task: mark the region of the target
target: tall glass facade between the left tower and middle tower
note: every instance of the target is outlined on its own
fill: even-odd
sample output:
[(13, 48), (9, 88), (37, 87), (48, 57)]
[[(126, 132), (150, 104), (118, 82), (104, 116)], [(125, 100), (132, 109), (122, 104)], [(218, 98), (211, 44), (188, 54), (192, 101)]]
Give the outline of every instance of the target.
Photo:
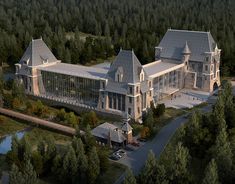
[(97, 107), (100, 81), (41, 71), (40, 93)]

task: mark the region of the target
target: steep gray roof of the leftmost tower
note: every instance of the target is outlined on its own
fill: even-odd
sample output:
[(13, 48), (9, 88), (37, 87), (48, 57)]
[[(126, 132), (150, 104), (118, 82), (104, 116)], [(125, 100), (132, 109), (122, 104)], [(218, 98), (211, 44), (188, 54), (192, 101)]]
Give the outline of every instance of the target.
[(28, 66), (42, 65), (44, 62), (53, 63), (57, 59), (42, 39), (32, 40), (26, 49), (20, 64), (28, 63)]

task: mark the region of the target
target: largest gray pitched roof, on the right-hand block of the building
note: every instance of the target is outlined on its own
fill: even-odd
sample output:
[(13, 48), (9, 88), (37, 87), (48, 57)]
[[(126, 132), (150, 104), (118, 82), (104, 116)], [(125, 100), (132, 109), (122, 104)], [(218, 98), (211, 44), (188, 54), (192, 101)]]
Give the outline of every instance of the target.
[(210, 32), (169, 29), (159, 44), (162, 48), (161, 58), (181, 60), (186, 42), (192, 61), (204, 61), (203, 54), (213, 52), (216, 46)]

